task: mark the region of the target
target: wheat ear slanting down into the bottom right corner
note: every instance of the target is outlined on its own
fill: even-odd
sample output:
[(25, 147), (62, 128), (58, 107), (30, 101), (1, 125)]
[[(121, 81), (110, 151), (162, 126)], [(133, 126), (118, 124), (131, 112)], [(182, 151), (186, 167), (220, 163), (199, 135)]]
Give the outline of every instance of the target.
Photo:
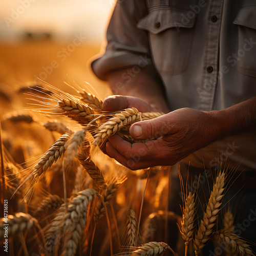
[(255, 255), (250, 249), (250, 246), (241, 239), (241, 237), (232, 233), (228, 230), (219, 230), (215, 232), (217, 239), (222, 241), (225, 245), (229, 246), (231, 249), (236, 251), (239, 255), (251, 256)]

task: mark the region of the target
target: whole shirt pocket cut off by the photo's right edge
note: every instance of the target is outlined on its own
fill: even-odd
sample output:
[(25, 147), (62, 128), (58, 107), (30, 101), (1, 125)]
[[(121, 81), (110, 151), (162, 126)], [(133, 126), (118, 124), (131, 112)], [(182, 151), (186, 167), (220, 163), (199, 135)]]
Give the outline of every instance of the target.
[(233, 24), (239, 25), (237, 71), (256, 77), (256, 6), (242, 7)]

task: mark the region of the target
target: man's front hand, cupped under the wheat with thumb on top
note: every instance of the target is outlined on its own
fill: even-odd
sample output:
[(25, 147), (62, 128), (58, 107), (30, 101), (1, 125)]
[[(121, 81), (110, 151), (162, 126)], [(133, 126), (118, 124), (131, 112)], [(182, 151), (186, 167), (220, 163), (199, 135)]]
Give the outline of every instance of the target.
[(131, 144), (114, 135), (106, 143), (106, 152), (133, 170), (173, 165), (219, 137), (213, 113), (184, 108), (152, 120), (136, 122), (130, 128), (133, 138), (157, 139)]

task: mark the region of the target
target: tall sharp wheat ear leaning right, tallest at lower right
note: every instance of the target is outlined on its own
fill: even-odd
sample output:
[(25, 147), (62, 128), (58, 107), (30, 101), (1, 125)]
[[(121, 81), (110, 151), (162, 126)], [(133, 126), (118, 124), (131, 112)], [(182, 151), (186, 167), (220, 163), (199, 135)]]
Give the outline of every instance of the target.
[(212, 228), (215, 225), (215, 221), (219, 215), (221, 199), (223, 198), (225, 183), (225, 171), (220, 172), (216, 178), (214, 187), (211, 191), (209, 202), (206, 207), (206, 211), (203, 215), (203, 220), (198, 228), (198, 232), (194, 239), (195, 254), (198, 255), (199, 249), (203, 248), (205, 243), (210, 239), (212, 235)]

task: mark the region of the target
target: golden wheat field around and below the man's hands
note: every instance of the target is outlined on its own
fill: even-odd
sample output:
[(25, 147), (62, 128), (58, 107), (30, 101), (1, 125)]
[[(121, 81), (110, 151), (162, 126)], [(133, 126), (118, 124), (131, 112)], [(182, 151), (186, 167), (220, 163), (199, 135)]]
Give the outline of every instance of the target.
[(61, 48), (1, 47), (1, 255), (203, 255), (209, 241), (225, 244), (226, 255), (254, 255), (222, 205), (225, 166), (205, 202), (183, 190), (177, 215), (168, 211), (171, 167), (132, 171), (101, 152), (113, 134), (133, 143), (130, 125), (163, 113), (103, 111), (110, 89), (88, 68), (99, 46), (78, 47), (35, 81)]

